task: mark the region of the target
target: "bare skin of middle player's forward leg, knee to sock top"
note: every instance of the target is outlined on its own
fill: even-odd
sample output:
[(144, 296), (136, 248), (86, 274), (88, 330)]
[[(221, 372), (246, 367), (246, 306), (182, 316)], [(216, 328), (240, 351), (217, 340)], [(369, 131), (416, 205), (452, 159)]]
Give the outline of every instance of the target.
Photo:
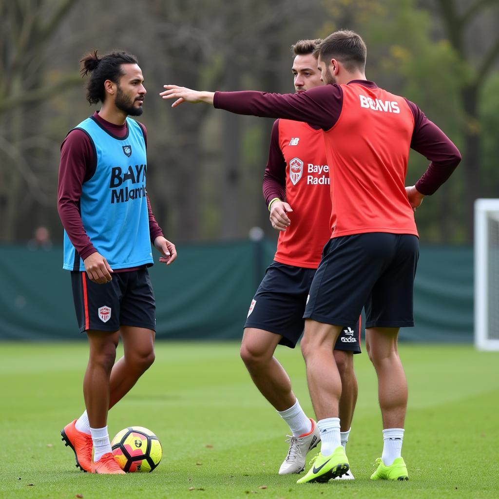
[(276, 411), (284, 411), (296, 402), (289, 376), (273, 356), (281, 338), (263, 329), (247, 327), (240, 351), (253, 383)]

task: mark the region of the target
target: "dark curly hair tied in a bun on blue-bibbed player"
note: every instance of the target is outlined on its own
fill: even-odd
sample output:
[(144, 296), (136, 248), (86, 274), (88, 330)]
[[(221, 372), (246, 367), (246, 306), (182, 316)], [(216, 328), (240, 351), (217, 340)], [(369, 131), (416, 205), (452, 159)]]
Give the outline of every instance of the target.
[(122, 64), (138, 64), (137, 57), (127, 52), (116, 51), (99, 57), (97, 50), (85, 55), (80, 62), (81, 76), (91, 73), (87, 84), (87, 100), (90, 104), (104, 102), (106, 96), (104, 82), (111, 80), (118, 83), (119, 77), (125, 74), (121, 69)]

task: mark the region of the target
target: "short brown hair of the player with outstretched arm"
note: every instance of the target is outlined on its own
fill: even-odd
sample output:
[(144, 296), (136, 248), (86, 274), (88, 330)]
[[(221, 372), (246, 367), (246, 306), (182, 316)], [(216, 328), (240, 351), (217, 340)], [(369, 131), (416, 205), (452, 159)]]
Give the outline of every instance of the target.
[(335, 31), (322, 40), (313, 55), (329, 64), (331, 59), (338, 59), (347, 71), (364, 70), (367, 48), (364, 40), (355, 31), (342, 29)]

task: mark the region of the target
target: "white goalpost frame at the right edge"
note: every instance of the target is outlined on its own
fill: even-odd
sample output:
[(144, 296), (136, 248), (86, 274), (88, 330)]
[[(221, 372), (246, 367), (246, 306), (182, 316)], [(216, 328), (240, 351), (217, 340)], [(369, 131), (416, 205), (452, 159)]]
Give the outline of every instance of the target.
[(475, 201), (475, 346), (499, 350), (499, 199)]

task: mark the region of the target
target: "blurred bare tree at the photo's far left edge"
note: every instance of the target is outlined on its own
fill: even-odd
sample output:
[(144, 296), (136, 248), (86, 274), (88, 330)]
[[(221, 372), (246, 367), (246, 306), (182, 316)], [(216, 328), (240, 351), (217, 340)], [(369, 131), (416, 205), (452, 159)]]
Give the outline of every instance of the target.
[[(27, 192), (40, 204), (51, 203), (43, 178), (32, 170), (27, 153), (34, 157), (46, 144), (40, 136), (26, 132), (26, 106), (42, 102), (64, 88), (73, 86), (75, 74), (48, 83), (44, 79), (44, 49), (55, 28), (77, 0), (0, 2), (0, 240), (11, 242), (19, 216), (21, 194)], [(34, 151), (36, 150), (36, 151)], [(41, 152), (43, 154), (43, 152)], [(22, 185), (26, 191), (21, 189)], [(25, 197), (25, 196), (24, 196)], [(24, 199), (25, 201), (25, 199)]]

